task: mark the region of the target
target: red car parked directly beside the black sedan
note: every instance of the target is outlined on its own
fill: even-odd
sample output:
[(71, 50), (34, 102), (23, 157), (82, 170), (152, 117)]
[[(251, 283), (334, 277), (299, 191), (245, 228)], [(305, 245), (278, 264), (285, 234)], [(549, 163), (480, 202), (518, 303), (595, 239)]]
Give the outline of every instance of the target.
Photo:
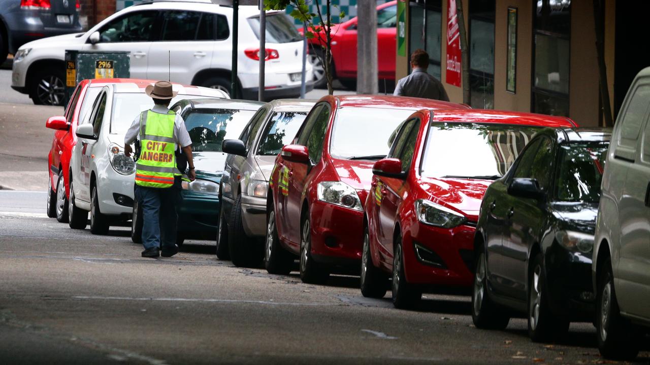
[(415, 306), (423, 291), (461, 291), (473, 279), (474, 230), (489, 184), (543, 127), (564, 117), (496, 110), (419, 110), (391, 136), (365, 200), (361, 293)]

